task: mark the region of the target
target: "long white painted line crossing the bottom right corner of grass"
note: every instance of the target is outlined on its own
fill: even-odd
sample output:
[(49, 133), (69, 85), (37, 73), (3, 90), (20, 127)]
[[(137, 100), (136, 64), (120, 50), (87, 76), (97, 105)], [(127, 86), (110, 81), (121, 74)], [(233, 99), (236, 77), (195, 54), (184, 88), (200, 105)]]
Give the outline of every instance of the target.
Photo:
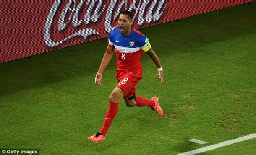
[(243, 136), (243, 137), (239, 137), (239, 138), (235, 138), (233, 140), (227, 140), (225, 142), (220, 142), (218, 144), (202, 147), (202, 148), (199, 148), (199, 149), (196, 149), (196, 150), (180, 153), (178, 155), (194, 155), (194, 154), (197, 154), (197, 153), (202, 153), (202, 152), (205, 152), (205, 151), (214, 150), (214, 149), (217, 149), (219, 147), (231, 145), (231, 144), (234, 144), (236, 142), (242, 142), (244, 140), (250, 140), (250, 139), (253, 139), (253, 138), (256, 138), (256, 133), (249, 134), (247, 136)]

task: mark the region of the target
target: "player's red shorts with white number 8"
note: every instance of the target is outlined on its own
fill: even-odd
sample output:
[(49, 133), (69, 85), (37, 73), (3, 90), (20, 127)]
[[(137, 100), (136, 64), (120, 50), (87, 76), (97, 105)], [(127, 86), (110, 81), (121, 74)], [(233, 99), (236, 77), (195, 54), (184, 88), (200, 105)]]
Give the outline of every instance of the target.
[(118, 78), (116, 87), (122, 89), (124, 98), (136, 94), (136, 85), (141, 80), (141, 77), (136, 72), (129, 72)]

